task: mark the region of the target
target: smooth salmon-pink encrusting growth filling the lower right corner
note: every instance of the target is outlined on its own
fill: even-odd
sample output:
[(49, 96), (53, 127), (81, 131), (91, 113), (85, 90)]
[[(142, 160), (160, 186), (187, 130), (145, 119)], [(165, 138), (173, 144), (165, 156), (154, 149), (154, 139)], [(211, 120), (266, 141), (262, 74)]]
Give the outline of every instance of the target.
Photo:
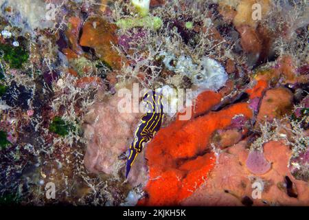
[[(242, 141), (220, 153), (207, 182), (183, 206), (305, 206), (309, 202), (308, 183), (290, 174), (291, 151), (281, 142), (264, 144), (264, 157), (272, 164), (263, 175), (252, 175), (244, 166), (247, 143)], [(229, 170), (229, 172), (227, 172)], [(260, 190), (260, 195), (257, 190)], [(253, 198), (254, 197), (254, 198)], [(248, 202), (250, 201), (250, 202)]]

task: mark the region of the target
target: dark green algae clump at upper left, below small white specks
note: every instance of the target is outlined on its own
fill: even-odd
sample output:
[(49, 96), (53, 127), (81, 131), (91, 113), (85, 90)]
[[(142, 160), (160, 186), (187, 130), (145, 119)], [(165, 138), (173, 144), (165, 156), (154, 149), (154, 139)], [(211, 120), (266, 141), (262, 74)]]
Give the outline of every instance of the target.
[(0, 43), (0, 52), (3, 54), (3, 60), (14, 69), (21, 69), (23, 63), (29, 58), (28, 52), (23, 50), (22, 47), (14, 47), (3, 43)]

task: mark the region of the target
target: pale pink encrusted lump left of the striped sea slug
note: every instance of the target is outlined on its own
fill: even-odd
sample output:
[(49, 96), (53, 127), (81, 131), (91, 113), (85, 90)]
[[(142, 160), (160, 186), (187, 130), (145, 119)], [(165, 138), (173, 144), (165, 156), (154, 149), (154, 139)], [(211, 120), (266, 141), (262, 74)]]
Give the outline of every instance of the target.
[(117, 175), (124, 164), (119, 156), (133, 140), (140, 113), (119, 113), (119, 100), (113, 97), (107, 102), (95, 103), (84, 119), (87, 123), (84, 135), (88, 139), (84, 165), (92, 173)]

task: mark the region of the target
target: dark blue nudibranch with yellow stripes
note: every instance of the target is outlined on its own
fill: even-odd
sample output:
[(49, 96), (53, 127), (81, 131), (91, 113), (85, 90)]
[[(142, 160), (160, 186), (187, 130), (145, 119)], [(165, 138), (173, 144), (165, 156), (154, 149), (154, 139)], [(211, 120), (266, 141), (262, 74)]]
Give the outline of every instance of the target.
[(162, 94), (148, 91), (144, 95), (143, 102), (146, 104), (148, 111), (141, 117), (141, 122), (137, 125), (134, 133), (134, 140), (130, 144), (128, 161), (126, 162), (126, 178), (137, 155), (141, 153), (144, 145), (150, 142), (161, 128), (164, 116)]

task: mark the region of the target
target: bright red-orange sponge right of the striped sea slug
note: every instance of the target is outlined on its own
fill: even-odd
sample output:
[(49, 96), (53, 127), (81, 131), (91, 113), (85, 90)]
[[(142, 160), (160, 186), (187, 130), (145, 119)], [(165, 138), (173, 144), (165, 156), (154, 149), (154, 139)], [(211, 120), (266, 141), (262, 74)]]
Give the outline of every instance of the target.
[[(251, 118), (249, 104), (233, 104), (218, 112), (209, 109), (220, 102), (220, 95), (204, 92), (196, 101), (194, 117), (176, 120), (161, 129), (146, 148), (150, 180), (145, 188), (148, 197), (141, 206), (175, 206), (189, 197), (207, 179), (216, 157), (209, 150), (209, 139), (217, 129), (225, 129), (235, 115)], [(206, 113), (205, 115), (200, 113)]]

